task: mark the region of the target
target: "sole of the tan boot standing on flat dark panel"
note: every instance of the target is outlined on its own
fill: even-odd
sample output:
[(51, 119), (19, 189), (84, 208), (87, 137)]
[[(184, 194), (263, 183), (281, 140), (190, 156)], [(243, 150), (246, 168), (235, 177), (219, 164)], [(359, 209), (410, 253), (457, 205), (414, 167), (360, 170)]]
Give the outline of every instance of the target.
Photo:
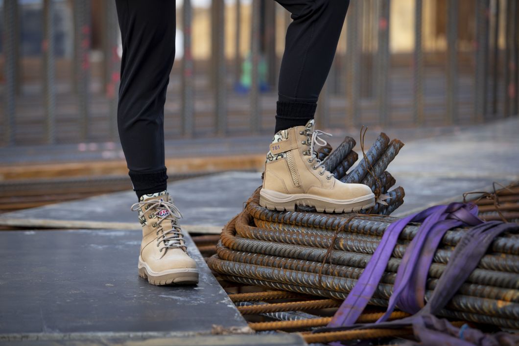
[(198, 283), (198, 269), (179, 268), (154, 272), (139, 256), (139, 276), (147, 279), (152, 285), (196, 285)]

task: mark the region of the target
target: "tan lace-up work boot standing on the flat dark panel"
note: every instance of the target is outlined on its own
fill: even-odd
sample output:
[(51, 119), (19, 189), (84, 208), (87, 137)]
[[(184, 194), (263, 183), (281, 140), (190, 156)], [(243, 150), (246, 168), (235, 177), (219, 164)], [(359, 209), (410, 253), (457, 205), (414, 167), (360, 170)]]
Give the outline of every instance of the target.
[(168, 191), (144, 195), (131, 209), (139, 211), (142, 225), (139, 276), (153, 285), (197, 284), (196, 262), (187, 254), (177, 224), (182, 215)]

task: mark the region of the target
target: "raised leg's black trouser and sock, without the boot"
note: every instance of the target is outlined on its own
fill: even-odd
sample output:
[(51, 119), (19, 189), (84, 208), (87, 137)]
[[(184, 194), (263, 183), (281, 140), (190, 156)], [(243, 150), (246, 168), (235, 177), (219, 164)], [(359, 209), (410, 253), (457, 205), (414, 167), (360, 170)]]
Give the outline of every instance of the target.
[(279, 72), (275, 133), (313, 119), (349, 0), (277, 0), (292, 13)]

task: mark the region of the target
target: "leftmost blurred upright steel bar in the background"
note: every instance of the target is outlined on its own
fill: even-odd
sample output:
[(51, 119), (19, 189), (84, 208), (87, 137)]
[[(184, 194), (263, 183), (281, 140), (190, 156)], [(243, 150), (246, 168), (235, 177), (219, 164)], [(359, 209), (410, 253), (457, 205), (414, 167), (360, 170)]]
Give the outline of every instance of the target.
[(16, 53), (15, 25), (17, 0), (4, 0), (4, 141), (5, 145), (15, 144), (16, 134)]

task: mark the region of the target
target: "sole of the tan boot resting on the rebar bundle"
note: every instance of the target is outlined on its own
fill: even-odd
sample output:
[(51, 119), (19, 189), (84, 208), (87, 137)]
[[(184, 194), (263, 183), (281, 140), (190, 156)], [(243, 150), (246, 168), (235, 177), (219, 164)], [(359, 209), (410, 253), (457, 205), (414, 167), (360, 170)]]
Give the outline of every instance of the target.
[(351, 213), (367, 209), (375, 205), (375, 195), (353, 198), (350, 200), (334, 200), (326, 197), (308, 195), (307, 193), (287, 193), (265, 190), (260, 191), (260, 205), (269, 210), (295, 211), (297, 205), (315, 207), (322, 213)]

